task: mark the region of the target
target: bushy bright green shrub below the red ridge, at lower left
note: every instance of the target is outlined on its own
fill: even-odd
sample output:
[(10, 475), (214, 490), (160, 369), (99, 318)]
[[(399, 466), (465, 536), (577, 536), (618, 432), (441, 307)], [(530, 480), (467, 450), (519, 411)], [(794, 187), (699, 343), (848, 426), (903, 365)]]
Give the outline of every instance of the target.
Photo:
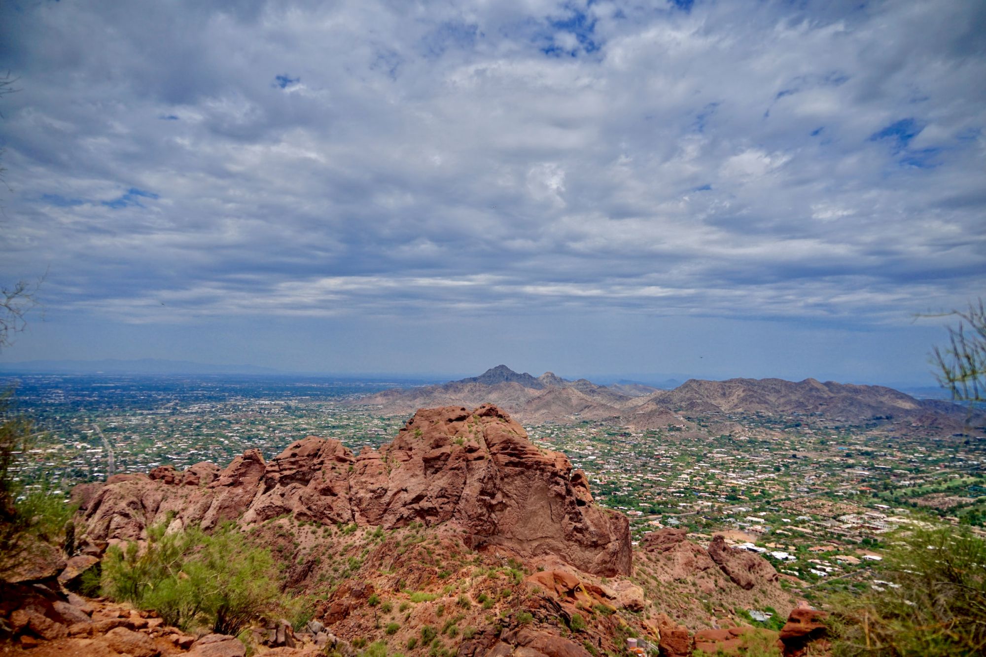
[(165, 533), (148, 528), (147, 548), (110, 547), (103, 560), (103, 592), (168, 624), (205, 622), (220, 634), (236, 635), (278, 599), (270, 552), (246, 544), (232, 524), (212, 535), (198, 529)]

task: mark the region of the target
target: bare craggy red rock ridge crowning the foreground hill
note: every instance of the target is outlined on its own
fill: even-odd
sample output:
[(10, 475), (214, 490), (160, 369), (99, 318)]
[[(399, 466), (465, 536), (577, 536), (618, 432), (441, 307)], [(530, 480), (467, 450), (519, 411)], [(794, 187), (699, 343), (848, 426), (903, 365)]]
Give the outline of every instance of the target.
[(470, 547), (553, 554), (600, 575), (630, 572), (626, 518), (597, 506), (584, 474), (563, 455), (539, 450), (490, 404), (419, 410), (393, 442), (359, 455), (310, 436), (270, 463), (251, 450), (218, 473), (192, 468), (197, 485), (165, 471), (107, 483), (82, 512), (84, 538), (97, 546), (141, 539), (169, 511), (177, 527), (205, 528), (293, 513), (385, 529), (449, 523)]

